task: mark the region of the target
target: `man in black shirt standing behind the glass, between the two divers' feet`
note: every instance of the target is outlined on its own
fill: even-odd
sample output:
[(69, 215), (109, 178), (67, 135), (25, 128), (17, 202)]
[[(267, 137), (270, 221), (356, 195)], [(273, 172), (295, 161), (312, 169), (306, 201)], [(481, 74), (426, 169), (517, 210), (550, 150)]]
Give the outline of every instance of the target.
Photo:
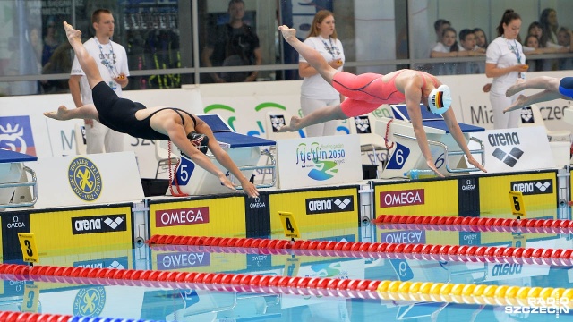
[[(262, 64), (259, 37), (251, 26), (244, 23), (243, 0), (231, 0), (228, 6), (229, 22), (218, 26), (215, 33), (207, 39), (207, 45), (201, 53), (201, 62), (207, 67), (243, 66)], [(213, 72), (215, 82), (253, 81), (254, 72)]]

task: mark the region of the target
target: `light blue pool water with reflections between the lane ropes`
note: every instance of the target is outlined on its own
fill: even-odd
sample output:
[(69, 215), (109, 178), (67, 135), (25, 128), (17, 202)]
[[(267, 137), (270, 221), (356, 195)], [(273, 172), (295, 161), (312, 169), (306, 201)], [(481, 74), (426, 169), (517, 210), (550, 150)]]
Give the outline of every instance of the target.
[[(486, 236), (486, 233), (479, 232), (480, 227), (475, 227), (475, 232), (434, 231), (432, 235), (430, 231), (415, 229), (392, 230), (385, 226), (377, 229), (378, 233), (382, 232), (381, 236), (387, 236), (386, 241), (392, 238), (390, 242), (432, 242), (442, 245), (452, 244), (449, 233), (457, 233), (462, 242), (471, 241), (480, 245), (488, 239), (496, 240), (496, 234), (508, 234), (489, 232)], [(509, 233), (509, 237), (497, 238), (497, 242), (490, 244), (507, 247), (512, 245), (512, 240), (526, 242), (526, 247), (534, 249), (572, 248), (569, 234), (560, 233)], [(71, 250), (60, 254), (45, 254), (39, 265), (402, 283), (573, 288), (572, 267), (565, 266), (568, 263), (545, 261), (539, 264), (503, 258), (489, 258), (487, 262), (482, 262), (456, 256), (404, 257), (376, 252), (364, 254), (352, 251), (279, 251), (144, 244), (135, 249), (117, 246), (107, 250)], [(451, 300), (451, 297), (440, 297), (438, 301), (432, 301), (435, 297), (418, 297), (419, 300), (414, 301), (415, 297), (407, 296), (400, 298), (387, 294), (386, 297), (377, 297), (377, 292), (348, 297), (338, 296), (348, 295), (348, 292), (326, 294), (256, 285), (245, 285), (237, 292), (237, 288), (213, 284), (153, 284), (141, 280), (127, 283), (114, 278), (50, 280), (35, 276), (28, 281), (19, 281), (11, 275), (2, 275), (2, 278), (4, 285), (0, 310), (21, 311), (29, 307), (30, 292), (35, 292), (38, 294), (38, 312), (74, 316), (220, 322), (573, 320), (573, 312), (569, 313), (566, 306), (547, 310), (483, 305), (477, 303), (479, 301), (469, 304), (444, 302)]]

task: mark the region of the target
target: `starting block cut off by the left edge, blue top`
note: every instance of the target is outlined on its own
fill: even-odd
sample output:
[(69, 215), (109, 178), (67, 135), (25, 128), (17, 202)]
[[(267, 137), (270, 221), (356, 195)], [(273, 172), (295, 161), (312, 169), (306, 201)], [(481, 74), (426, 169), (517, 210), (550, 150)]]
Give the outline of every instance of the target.
[[(38, 199), (38, 185), (36, 173), (23, 162), (38, 160), (37, 157), (0, 148), (0, 210), (3, 208), (31, 207)], [(30, 181), (28, 180), (30, 174)], [(30, 200), (17, 200), (14, 197), (16, 189), (30, 190)], [(23, 193), (29, 194), (29, 193)]]

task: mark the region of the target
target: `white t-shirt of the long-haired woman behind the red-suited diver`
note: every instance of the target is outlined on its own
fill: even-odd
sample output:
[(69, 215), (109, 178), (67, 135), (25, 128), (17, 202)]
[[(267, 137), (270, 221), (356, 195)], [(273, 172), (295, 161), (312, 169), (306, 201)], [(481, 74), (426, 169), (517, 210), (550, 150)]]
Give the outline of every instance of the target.
[[(304, 40), (304, 44), (316, 49), (327, 62), (341, 59), (344, 64), (344, 50), (339, 39), (324, 39), (321, 36), (309, 37)], [(299, 55), (298, 61), (307, 63), (302, 55)], [(342, 66), (338, 67), (338, 71), (342, 71)], [(301, 85), (301, 96), (311, 99), (337, 99), (340, 94), (322, 78), (321, 74), (317, 73), (311, 77), (304, 77), (303, 85)]]

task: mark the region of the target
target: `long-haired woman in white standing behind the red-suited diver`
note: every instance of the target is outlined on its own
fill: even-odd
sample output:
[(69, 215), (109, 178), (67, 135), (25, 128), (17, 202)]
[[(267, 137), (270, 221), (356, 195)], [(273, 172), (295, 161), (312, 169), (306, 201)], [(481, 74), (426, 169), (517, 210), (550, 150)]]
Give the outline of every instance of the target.
[[(309, 35), (304, 44), (316, 49), (332, 68), (342, 71), (345, 62), (342, 43), (337, 37), (334, 14), (321, 10), (314, 15)], [(301, 86), (301, 108), (304, 115), (324, 106), (340, 104), (341, 95), (324, 80), (319, 72), (308, 64), (302, 55), (298, 58), (298, 74), (304, 78)], [(306, 128), (308, 137), (334, 135), (338, 121), (318, 123)]]

